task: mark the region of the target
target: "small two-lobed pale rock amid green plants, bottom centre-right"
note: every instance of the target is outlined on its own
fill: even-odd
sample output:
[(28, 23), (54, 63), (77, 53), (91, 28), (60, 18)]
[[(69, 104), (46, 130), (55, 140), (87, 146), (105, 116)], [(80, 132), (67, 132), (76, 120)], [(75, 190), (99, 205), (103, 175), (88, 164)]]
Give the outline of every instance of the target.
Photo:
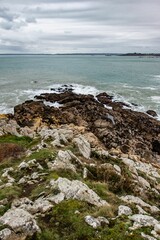
[(102, 225), (108, 225), (109, 221), (105, 217), (94, 218), (90, 215), (85, 217), (85, 222), (93, 228), (101, 227)]

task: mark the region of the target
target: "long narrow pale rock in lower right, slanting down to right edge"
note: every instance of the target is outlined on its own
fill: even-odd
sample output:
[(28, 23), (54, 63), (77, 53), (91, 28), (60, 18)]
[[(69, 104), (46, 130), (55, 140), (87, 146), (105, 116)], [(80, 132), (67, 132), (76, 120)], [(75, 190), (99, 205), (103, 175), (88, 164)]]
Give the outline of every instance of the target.
[(126, 196), (120, 197), (120, 199), (123, 200), (124, 202), (135, 203), (137, 205), (140, 205), (141, 207), (147, 207), (147, 208), (150, 209), (150, 211), (152, 213), (156, 213), (156, 212), (160, 211), (159, 208), (157, 208), (156, 206), (151, 206), (150, 204), (144, 202), (139, 197), (135, 197), (135, 196), (132, 196), (132, 195), (126, 195)]

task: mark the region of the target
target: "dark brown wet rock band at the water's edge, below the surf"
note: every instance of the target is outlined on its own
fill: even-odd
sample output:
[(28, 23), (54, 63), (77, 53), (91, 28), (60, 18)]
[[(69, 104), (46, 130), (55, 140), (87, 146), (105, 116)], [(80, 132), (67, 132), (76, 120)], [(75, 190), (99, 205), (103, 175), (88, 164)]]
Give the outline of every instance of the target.
[[(36, 118), (48, 126), (70, 123), (84, 125), (108, 150), (112, 147), (122, 148), (124, 154), (148, 157), (150, 161), (158, 160), (155, 153), (160, 154), (157, 142), (160, 122), (145, 113), (124, 109), (124, 103), (114, 102), (106, 93), (94, 98), (92, 95), (67, 91), (59, 94), (46, 93), (36, 98), (56, 101), (63, 106), (57, 109), (46, 106), (42, 101), (26, 101), (15, 107), (14, 119), (20, 126), (34, 125)], [(106, 108), (104, 104), (113, 109)], [(65, 136), (62, 139), (67, 138)]]

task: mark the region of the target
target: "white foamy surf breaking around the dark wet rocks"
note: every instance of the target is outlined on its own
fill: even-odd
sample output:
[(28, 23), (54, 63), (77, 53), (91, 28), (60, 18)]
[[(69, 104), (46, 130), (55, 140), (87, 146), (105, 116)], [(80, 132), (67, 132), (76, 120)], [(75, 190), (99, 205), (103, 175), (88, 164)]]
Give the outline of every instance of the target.
[[(147, 87), (149, 88), (149, 87)], [(47, 86), (45, 89), (26, 89), (26, 90), (16, 90), (16, 93), (12, 93), (12, 98), (14, 95), (14, 102), (12, 102), (13, 105), (20, 104), (26, 100), (32, 100), (36, 95), (40, 95), (43, 93), (61, 93), (67, 89), (71, 89), (74, 93), (76, 94), (92, 94), (93, 96), (96, 96), (102, 91), (99, 91), (96, 87), (94, 86), (88, 86), (88, 85), (81, 85), (81, 84), (52, 84), (50, 86)], [(128, 105), (129, 109), (132, 109), (133, 111), (139, 111), (139, 112), (146, 112), (149, 108), (147, 105), (141, 105), (141, 104), (133, 104), (134, 101), (136, 100), (133, 96), (130, 97), (124, 97), (120, 94), (117, 94), (116, 91), (107, 91), (108, 94), (113, 96), (114, 101), (120, 101), (124, 102), (125, 104)], [(150, 98), (151, 102), (155, 103), (155, 106), (157, 106), (157, 103), (160, 103), (160, 96), (151, 96)], [(14, 107), (11, 106), (11, 102), (9, 101), (7, 103), (3, 103), (0, 106), (0, 113), (13, 113)], [(137, 101), (136, 101), (137, 103)], [(59, 107), (56, 103), (49, 103), (46, 102), (47, 105), (52, 105), (55, 107)], [(157, 108), (157, 107), (156, 107)], [(153, 110), (158, 110), (157, 109)], [(159, 111), (157, 111), (159, 114)], [(160, 120), (160, 114), (158, 116), (158, 119)]]

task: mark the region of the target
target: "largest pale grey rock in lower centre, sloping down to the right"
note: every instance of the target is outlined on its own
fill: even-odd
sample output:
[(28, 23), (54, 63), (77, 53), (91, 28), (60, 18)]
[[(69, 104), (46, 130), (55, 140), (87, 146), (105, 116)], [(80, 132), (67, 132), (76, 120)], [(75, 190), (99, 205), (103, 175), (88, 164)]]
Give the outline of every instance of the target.
[(52, 189), (58, 189), (65, 195), (66, 199), (77, 199), (85, 201), (95, 206), (109, 205), (105, 200), (102, 200), (93, 190), (91, 190), (86, 184), (73, 180), (70, 181), (67, 178), (59, 177), (56, 181), (51, 180), (50, 185)]

